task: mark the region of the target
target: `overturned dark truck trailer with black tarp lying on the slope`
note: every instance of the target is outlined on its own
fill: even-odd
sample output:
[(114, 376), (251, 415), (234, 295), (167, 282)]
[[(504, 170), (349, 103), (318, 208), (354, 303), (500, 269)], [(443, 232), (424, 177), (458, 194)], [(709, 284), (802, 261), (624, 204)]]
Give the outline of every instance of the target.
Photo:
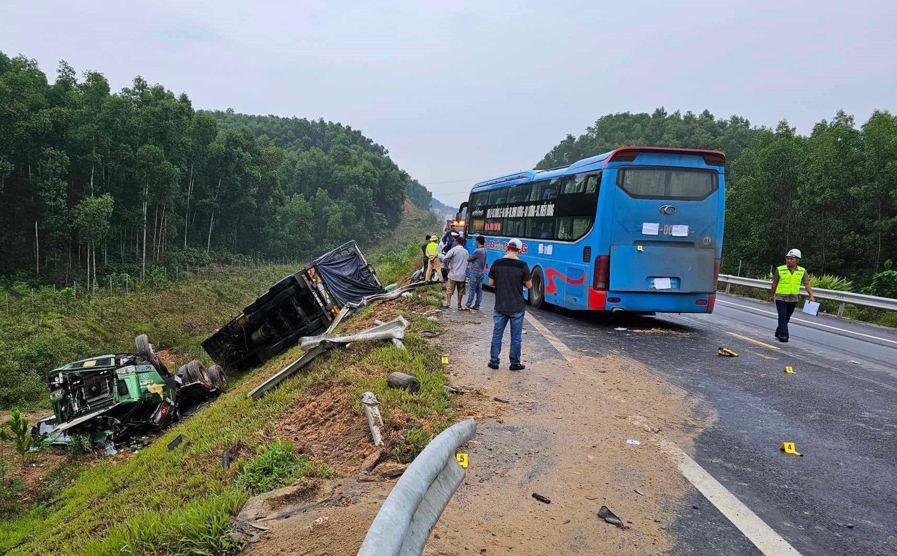
[(345, 304), (382, 292), (377, 273), (351, 241), (274, 284), (203, 348), (224, 369), (250, 369), (327, 329)]

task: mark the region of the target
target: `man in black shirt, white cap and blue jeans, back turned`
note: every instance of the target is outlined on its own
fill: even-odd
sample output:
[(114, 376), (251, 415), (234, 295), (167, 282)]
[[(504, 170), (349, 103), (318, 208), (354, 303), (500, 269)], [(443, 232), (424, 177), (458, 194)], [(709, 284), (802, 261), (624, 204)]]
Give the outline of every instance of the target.
[(510, 370), (521, 371), (527, 368), (520, 363), (520, 344), (522, 342), (523, 315), (527, 302), (523, 298), (523, 288), (533, 287), (529, 276), (529, 265), (520, 261), (519, 253), (523, 242), (512, 238), (505, 248), (505, 256), (492, 263), (489, 269), (489, 285), (495, 287), (495, 310), (492, 312), (492, 347), (489, 352), (489, 368), (499, 368), (501, 355), (501, 337), (510, 321)]

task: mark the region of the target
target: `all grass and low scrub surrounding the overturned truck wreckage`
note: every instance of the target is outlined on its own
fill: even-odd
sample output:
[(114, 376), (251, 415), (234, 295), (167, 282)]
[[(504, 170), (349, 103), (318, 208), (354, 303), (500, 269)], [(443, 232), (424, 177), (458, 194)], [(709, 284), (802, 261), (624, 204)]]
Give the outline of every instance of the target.
[[(410, 203), (409, 203), (410, 204)], [(405, 208), (411, 223), (392, 236), (397, 252), (370, 253), (384, 283), (407, 278), (420, 263), (416, 240), (432, 224), (429, 213)], [(432, 232), (439, 230), (433, 229)], [(230, 318), (290, 267), (219, 269), (210, 278), (170, 283), (127, 295), (98, 294), (74, 305), (72, 312), (29, 317), (36, 330), (56, 336), (59, 362), (118, 349), (133, 350), (136, 333), (146, 332), (167, 353), (184, 358), (205, 356), (198, 343)], [(136, 453), (115, 457), (85, 455), (83, 450), (48, 449), (39, 462), (53, 461), (53, 469), (38, 485), (22, 483), (21, 464), (12, 444), (0, 458), (3, 480), (0, 500), (0, 553), (11, 555), (87, 554), (228, 554), (241, 545), (228, 533), (231, 518), (258, 492), (303, 478), (334, 477), (347, 471), (344, 462), (300, 453), (278, 430), (278, 420), (298, 406), (313, 403), (322, 393), (338, 393), (339, 411), (363, 422), (359, 398), (371, 390), (380, 399), (387, 458), (408, 462), (432, 436), (457, 418), (455, 401), (443, 389), (439, 350), (421, 337), (439, 331), (427, 319), (440, 304), (438, 286), (422, 287), (410, 298), (366, 308), (342, 329), (361, 329), (374, 319), (403, 314), (411, 321), (405, 350), (387, 342), (358, 344), (332, 350), (284, 381), (266, 397), (254, 401), (247, 393), (300, 355), (298, 347), (260, 368), (229, 376), (231, 387), (195, 416), (172, 426)], [(20, 315), (21, 316), (21, 315)], [(52, 323), (52, 324), (47, 324)], [(23, 325), (22, 325), (23, 326)], [(50, 334), (50, 332), (47, 332)], [(20, 340), (24, 341), (23, 332)], [(69, 346), (74, 343), (74, 346)], [(42, 346), (43, 344), (41, 344)], [(101, 346), (101, 347), (98, 347)], [(50, 364), (52, 365), (52, 364)], [(42, 368), (49, 368), (48, 366)], [(388, 372), (413, 373), (421, 382), (415, 394), (389, 389)], [(39, 404), (41, 397), (35, 402)], [(316, 417), (317, 418), (317, 417)], [(326, 427), (327, 416), (320, 423)], [(179, 435), (184, 441), (167, 448)], [(4, 443), (0, 442), (0, 448)], [(222, 454), (235, 459), (228, 469)], [(33, 454), (32, 454), (33, 456)], [(357, 466), (357, 462), (354, 463)], [(24, 492), (28, 491), (28, 492)], [(27, 496), (23, 496), (27, 494)]]

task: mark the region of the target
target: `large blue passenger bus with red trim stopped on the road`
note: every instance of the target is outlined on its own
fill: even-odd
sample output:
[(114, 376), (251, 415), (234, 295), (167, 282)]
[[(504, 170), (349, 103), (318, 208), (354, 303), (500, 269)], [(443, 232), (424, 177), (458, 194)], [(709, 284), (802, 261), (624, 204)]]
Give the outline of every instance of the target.
[(529, 302), (611, 312), (713, 312), (725, 210), (718, 150), (623, 147), (475, 184), (467, 249), (487, 264), (523, 240)]

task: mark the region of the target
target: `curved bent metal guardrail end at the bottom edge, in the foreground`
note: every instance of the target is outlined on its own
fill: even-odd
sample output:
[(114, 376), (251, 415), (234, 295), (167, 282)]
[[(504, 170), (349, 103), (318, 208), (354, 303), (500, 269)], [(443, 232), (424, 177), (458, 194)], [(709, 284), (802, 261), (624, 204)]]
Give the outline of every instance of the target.
[(455, 450), (475, 433), (476, 422), (466, 419), (427, 444), (389, 492), (358, 556), (420, 556), (442, 510), (464, 480)]

